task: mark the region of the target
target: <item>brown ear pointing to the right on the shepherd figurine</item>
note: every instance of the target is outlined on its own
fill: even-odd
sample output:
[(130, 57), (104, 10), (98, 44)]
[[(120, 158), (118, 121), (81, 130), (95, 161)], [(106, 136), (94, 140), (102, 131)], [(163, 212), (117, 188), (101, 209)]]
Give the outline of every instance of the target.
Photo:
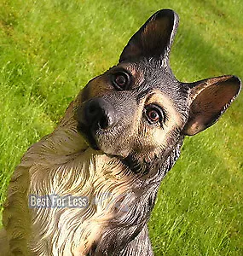
[(210, 127), (225, 112), (240, 92), (240, 79), (223, 76), (188, 84), (190, 114), (184, 126), (185, 135), (194, 135)]

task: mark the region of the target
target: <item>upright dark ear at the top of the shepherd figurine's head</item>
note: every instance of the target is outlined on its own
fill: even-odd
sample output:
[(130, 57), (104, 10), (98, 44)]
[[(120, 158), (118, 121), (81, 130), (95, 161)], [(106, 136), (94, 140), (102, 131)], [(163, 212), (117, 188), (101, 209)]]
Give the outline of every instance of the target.
[(119, 62), (142, 57), (164, 59), (169, 56), (176, 35), (179, 17), (171, 9), (162, 9), (152, 15), (124, 47)]

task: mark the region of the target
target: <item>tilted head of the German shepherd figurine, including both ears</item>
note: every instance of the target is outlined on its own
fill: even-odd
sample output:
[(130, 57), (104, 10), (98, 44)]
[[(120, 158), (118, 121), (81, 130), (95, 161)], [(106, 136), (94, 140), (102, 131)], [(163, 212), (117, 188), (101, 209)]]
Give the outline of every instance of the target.
[(155, 13), (130, 38), (119, 64), (80, 92), (78, 131), (91, 148), (137, 162), (161, 159), (185, 135), (213, 125), (234, 101), (240, 91), (234, 76), (175, 78), (169, 54), (178, 20), (170, 9)]

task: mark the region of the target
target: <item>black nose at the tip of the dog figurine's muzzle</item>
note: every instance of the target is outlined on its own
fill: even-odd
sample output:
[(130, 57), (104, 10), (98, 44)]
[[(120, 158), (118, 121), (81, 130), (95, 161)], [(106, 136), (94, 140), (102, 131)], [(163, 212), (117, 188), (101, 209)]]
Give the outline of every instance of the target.
[(86, 102), (84, 118), (88, 126), (102, 130), (112, 127), (116, 122), (113, 106), (101, 98), (95, 98)]

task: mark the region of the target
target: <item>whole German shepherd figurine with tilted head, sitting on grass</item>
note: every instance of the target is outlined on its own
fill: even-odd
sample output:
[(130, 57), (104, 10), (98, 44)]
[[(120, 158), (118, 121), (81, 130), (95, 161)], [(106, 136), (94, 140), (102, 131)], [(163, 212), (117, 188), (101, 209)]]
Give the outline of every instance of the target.
[(148, 219), (183, 138), (213, 125), (240, 91), (232, 75), (176, 80), (178, 20), (171, 9), (149, 18), (119, 64), (28, 149), (9, 184), (1, 255), (153, 255)]

